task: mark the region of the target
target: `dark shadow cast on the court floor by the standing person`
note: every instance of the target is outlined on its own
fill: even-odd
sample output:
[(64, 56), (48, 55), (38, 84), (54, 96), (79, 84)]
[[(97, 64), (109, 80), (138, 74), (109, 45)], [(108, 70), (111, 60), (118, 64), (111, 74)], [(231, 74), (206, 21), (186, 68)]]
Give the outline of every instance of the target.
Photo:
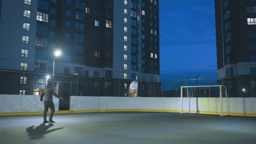
[(62, 128), (48, 130), (50, 127), (53, 127), (53, 126), (54, 126), (54, 124), (52, 124), (52, 123), (49, 123), (49, 125), (42, 123), (36, 128), (34, 128), (34, 125), (33, 125), (33, 126), (27, 128), (28, 137), (30, 140), (42, 139), (45, 134), (48, 134), (48, 133), (58, 130), (58, 129), (63, 129), (63, 127), (62, 127)]

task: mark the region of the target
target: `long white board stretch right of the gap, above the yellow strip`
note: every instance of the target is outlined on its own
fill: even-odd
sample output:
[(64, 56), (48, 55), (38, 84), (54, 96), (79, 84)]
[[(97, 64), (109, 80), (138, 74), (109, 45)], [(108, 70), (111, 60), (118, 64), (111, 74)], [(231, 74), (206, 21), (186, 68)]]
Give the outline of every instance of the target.
[[(197, 99), (197, 104), (196, 104)], [(256, 113), (256, 98), (222, 98), (223, 112)], [(227, 100), (227, 101), (226, 101)], [(183, 98), (183, 111), (220, 112), (220, 98)], [(181, 98), (71, 96), (70, 110), (181, 110)]]

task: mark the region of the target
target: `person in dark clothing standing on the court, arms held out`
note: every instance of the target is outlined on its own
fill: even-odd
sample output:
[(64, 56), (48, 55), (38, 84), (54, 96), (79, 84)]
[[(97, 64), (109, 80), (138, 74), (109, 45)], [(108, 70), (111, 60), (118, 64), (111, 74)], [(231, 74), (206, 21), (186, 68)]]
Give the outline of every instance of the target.
[(40, 95), (40, 104), (42, 104), (43, 97), (44, 97), (44, 116), (43, 116), (44, 123), (48, 123), (48, 121), (46, 120), (48, 108), (50, 108), (50, 110), (51, 110), (49, 122), (54, 123), (53, 115), (55, 112), (55, 107), (54, 107), (54, 103), (53, 103), (53, 95), (57, 98), (62, 99), (62, 97), (60, 97), (58, 94), (56, 94), (54, 92), (54, 89), (52, 86), (53, 86), (53, 82), (48, 81), (48, 85), (45, 86), (45, 88), (43, 89), (43, 93)]

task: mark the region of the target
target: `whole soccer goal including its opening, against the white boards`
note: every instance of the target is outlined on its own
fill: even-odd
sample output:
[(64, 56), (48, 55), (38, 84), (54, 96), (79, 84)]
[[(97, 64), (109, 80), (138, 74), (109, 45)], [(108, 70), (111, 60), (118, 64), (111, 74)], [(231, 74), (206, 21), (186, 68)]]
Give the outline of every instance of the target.
[(226, 86), (182, 86), (181, 113), (228, 115)]

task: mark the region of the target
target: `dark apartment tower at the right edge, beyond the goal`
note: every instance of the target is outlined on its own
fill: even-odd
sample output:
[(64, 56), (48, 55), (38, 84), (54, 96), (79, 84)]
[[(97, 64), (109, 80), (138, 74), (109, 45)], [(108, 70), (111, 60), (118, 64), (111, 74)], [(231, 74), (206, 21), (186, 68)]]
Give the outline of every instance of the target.
[(219, 83), (230, 97), (256, 94), (256, 1), (216, 0)]

